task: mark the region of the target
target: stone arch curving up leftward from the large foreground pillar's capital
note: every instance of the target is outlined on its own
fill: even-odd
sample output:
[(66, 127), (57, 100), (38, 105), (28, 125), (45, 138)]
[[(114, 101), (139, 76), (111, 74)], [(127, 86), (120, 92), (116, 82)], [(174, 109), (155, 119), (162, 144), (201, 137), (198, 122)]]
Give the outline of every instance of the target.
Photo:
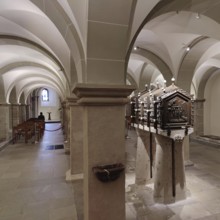
[[(47, 0), (42, 4), (40, 1), (30, 1), (37, 5), (52, 22), (57, 24), (57, 29), (70, 48), (71, 56), (73, 57), (74, 65), (77, 69), (77, 80), (78, 82), (85, 81), (86, 46), (84, 42), (86, 42), (86, 37), (84, 37), (85, 40), (83, 40), (78, 22), (68, 3), (66, 3), (66, 1)], [(81, 1), (81, 4), (83, 4), (83, 2), (84, 1)], [(87, 5), (84, 10), (87, 10)], [(56, 16), (54, 16), (54, 14)]]

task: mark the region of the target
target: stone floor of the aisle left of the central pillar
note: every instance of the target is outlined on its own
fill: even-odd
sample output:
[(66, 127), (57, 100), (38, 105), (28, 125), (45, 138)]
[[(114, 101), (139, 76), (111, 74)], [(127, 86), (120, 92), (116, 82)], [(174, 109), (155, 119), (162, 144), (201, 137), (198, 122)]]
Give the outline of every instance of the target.
[[(60, 124), (46, 124), (46, 129)], [(0, 152), (1, 220), (76, 220), (73, 185), (65, 182), (69, 156), (62, 145), (62, 131), (45, 131), (40, 143), (22, 140)]]

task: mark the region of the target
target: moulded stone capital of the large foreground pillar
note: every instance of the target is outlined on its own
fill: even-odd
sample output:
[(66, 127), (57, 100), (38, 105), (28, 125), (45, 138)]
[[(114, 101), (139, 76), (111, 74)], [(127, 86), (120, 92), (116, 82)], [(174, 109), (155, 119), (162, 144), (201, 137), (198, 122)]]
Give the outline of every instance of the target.
[(128, 96), (135, 90), (130, 85), (100, 85), (78, 83), (73, 93), (78, 97), (80, 105), (124, 105)]

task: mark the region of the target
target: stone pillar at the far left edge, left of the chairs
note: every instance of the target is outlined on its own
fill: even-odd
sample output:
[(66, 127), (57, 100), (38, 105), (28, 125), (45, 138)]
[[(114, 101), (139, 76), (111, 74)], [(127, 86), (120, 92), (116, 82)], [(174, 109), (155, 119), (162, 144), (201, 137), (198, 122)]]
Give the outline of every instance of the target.
[(0, 104), (0, 142), (10, 139), (10, 104)]

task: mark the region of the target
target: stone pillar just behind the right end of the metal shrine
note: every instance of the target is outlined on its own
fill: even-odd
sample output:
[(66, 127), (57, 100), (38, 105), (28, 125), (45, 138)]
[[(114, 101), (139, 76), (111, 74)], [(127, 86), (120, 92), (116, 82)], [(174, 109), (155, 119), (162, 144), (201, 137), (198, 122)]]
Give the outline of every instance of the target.
[(196, 136), (204, 134), (204, 102), (205, 99), (197, 99), (193, 103), (194, 135)]

